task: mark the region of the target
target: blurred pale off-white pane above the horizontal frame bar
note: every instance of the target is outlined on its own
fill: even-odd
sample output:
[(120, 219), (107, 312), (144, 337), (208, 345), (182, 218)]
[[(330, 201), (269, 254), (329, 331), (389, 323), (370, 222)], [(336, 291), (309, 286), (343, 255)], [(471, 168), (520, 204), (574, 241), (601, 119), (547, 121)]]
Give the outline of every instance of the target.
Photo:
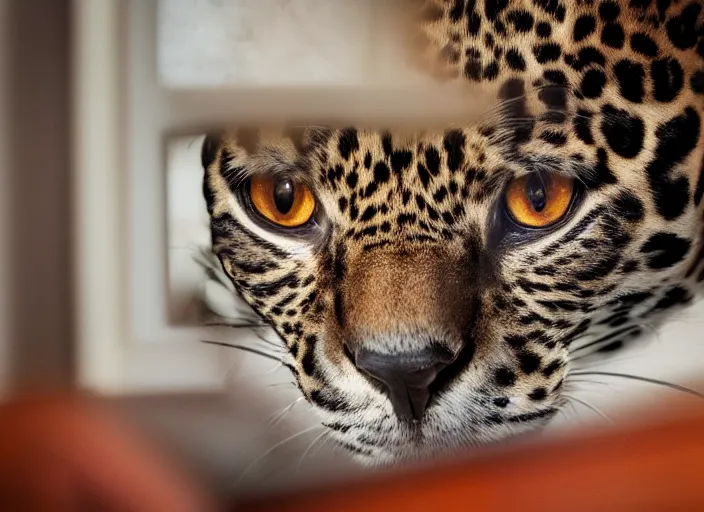
[(159, 74), (176, 87), (426, 82), (389, 30), (397, 2), (159, 0)]

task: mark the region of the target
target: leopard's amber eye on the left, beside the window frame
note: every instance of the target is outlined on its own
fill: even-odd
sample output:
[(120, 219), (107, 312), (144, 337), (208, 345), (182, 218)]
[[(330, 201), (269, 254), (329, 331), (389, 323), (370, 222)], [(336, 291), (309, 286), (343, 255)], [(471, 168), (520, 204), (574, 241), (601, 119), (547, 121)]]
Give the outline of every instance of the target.
[(310, 189), (290, 178), (254, 176), (249, 195), (260, 214), (286, 228), (302, 226), (315, 211)]

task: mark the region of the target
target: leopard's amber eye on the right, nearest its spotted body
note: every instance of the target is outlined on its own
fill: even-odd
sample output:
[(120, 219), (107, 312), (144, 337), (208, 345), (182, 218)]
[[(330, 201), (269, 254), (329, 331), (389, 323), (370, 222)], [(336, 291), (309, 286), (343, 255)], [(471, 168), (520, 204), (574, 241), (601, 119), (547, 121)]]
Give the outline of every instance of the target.
[(516, 178), (509, 184), (506, 205), (519, 224), (543, 228), (565, 215), (573, 191), (574, 183), (570, 178), (533, 173)]

